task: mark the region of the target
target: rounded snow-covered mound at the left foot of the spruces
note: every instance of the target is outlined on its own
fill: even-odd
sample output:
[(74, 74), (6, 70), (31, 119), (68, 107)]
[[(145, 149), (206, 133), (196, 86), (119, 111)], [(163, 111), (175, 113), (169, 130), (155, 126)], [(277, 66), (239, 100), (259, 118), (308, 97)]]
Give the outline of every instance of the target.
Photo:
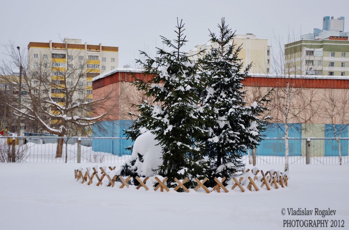
[(128, 168), (139, 176), (154, 176), (153, 169), (157, 169), (162, 165), (162, 159), (160, 159), (162, 156), (162, 146), (157, 145), (159, 142), (155, 140), (155, 137), (150, 131), (144, 132), (137, 137), (133, 145), (131, 157), (125, 161), (117, 174)]

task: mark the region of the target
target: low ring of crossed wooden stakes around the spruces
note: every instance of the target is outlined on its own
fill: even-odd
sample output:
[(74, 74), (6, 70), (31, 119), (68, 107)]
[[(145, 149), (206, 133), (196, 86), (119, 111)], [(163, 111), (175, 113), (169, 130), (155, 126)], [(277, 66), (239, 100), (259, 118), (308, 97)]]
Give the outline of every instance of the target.
[[(74, 170), (74, 176), (76, 181), (79, 181), (81, 184), (87, 182), (87, 185), (105, 187), (114, 187), (116, 185), (120, 185), (119, 188), (129, 188), (130, 186), (134, 186), (136, 189), (140, 189), (141, 187), (143, 187), (146, 191), (148, 191), (149, 188), (153, 188), (155, 184), (158, 184), (154, 188), (154, 191), (157, 191), (157, 189), (159, 188), (161, 192), (163, 192), (164, 190), (167, 192), (170, 191), (170, 189), (167, 187), (167, 177), (135, 177), (135, 179), (139, 182), (139, 185), (136, 186), (131, 184), (130, 176), (122, 177), (121, 175), (117, 175), (115, 168), (115, 166), (109, 166), (108, 168), (106, 166), (102, 166), (98, 168), (97, 165), (92, 167), (92, 171), (91, 167), (78, 168)], [(98, 170), (100, 172), (99, 175)], [(260, 174), (258, 175), (258, 173)], [(94, 178), (96, 178), (97, 181), (93, 181)], [(104, 178), (106, 178), (106, 180), (104, 180)], [(279, 187), (287, 187), (288, 179), (288, 172), (269, 170), (264, 173), (263, 170), (259, 170), (257, 167), (254, 167), (252, 168), (252, 170), (242, 170), (242, 173), (234, 174), (232, 176), (232, 179), (228, 181), (227, 186), (223, 185), (223, 182), (226, 180), (225, 177), (214, 178), (216, 186), (213, 188), (206, 187), (204, 185), (205, 182), (208, 180), (207, 178), (203, 180), (194, 178), (195, 182), (197, 183), (197, 186), (194, 189), (188, 189), (185, 186), (185, 183), (188, 181), (188, 178), (185, 178), (184, 180), (178, 180), (177, 178), (174, 178), (173, 183), (177, 186), (173, 188), (173, 190), (178, 191), (179, 188), (182, 188), (187, 193), (190, 191), (203, 191), (206, 193), (216, 191), (220, 193), (221, 189), (223, 189), (225, 193), (228, 193), (229, 190), (234, 190), (237, 187), (240, 189), (241, 192), (245, 192), (245, 189), (248, 189), (250, 191), (259, 191), (260, 189), (270, 190), (278, 189)], [(263, 188), (263, 186), (265, 186), (265, 188)]]

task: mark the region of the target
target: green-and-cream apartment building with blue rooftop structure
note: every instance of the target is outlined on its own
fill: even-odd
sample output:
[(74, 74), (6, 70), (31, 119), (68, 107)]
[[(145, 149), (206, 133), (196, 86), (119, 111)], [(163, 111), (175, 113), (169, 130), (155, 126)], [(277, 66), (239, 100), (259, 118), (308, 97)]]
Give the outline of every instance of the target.
[(297, 75), (349, 75), (349, 32), (344, 17), (324, 17), (323, 29), (285, 45), (285, 72)]

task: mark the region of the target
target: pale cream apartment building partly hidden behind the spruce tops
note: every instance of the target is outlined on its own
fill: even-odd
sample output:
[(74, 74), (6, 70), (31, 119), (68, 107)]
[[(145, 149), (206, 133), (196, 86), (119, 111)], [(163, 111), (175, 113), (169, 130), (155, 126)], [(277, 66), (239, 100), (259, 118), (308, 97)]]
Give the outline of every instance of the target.
[[(268, 45), (268, 39), (259, 39), (256, 35), (235, 35), (233, 41), (236, 48), (241, 45), (242, 50), (238, 54), (238, 58), (242, 59), (243, 68), (252, 63), (250, 73), (267, 74), (270, 69), (271, 46)], [(210, 41), (203, 45), (196, 45), (194, 49), (188, 52), (190, 59), (195, 62), (199, 58), (210, 52), (211, 48), (218, 48), (217, 44)], [(200, 52), (201, 51), (201, 52)]]

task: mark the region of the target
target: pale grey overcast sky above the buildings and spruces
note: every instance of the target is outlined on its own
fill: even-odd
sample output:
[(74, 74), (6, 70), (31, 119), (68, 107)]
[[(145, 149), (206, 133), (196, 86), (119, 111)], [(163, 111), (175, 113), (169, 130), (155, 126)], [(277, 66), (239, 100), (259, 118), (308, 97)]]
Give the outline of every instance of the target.
[[(322, 17), (344, 16), (349, 31), (349, 1), (322, 0), (113, 0), (113, 1), (0, 1), (0, 45), (27, 49), (29, 42), (60, 42), (80, 38), (82, 43), (119, 47), (119, 67), (134, 65), (138, 50), (154, 52), (162, 47), (159, 35), (173, 39), (176, 18), (183, 19), (188, 43), (185, 50), (205, 44), (208, 29), (217, 31), (225, 17), (236, 34), (253, 33), (275, 44), (274, 36), (287, 38), (289, 32), (312, 33), (322, 29)], [(293, 33), (293, 32), (292, 32)], [(0, 47), (0, 53), (4, 52)], [(0, 58), (4, 58), (0, 55)]]

